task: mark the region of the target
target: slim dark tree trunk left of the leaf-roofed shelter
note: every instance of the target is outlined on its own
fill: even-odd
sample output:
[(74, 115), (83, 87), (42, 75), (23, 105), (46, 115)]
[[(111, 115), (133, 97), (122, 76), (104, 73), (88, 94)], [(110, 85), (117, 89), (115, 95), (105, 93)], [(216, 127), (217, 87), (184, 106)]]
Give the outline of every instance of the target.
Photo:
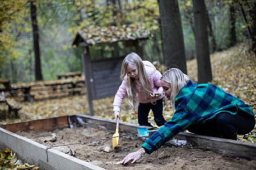
[(31, 21), (33, 28), (33, 42), (34, 42), (34, 52), (35, 52), (35, 80), (43, 80), (41, 73), (41, 61), (40, 61), (40, 48), (39, 48), (39, 30), (38, 23), (36, 21), (36, 5), (35, 0), (30, 1), (31, 8)]

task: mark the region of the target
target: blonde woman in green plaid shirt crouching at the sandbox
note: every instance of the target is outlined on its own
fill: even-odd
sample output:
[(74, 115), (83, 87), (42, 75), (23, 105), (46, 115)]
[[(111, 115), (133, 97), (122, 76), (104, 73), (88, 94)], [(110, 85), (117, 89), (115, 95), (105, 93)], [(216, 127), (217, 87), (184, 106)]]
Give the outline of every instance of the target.
[(211, 84), (192, 82), (179, 69), (162, 75), (164, 94), (175, 109), (173, 117), (151, 135), (137, 152), (128, 154), (122, 163), (151, 154), (174, 135), (189, 132), (211, 137), (236, 140), (237, 134), (247, 134), (255, 125), (253, 109), (235, 96)]

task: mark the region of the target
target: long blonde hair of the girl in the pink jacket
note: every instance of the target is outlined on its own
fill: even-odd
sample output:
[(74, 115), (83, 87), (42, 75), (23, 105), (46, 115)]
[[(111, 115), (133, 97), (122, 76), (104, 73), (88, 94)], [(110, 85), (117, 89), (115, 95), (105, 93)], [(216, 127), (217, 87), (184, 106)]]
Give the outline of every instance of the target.
[[(136, 79), (127, 75), (128, 65), (137, 67), (138, 80), (141, 83), (141, 89), (136, 89), (136, 85), (135, 85)], [(125, 89), (127, 91), (128, 103), (131, 106), (131, 108), (136, 109), (139, 104), (138, 97), (137, 97), (137, 91), (139, 90), (142, 91), (146, 100), (151, 101), (151, 97), (149, 93), (152, 93), (153, 90), (150, 85), (150, 80), (148, 79), (148, 75), (145, 70), (141, 57), (139, 57), (139, 55), (137, 55), (134, 52), (128, 54), (123, 60), (120, 78), (124, 80), (125, 75), (128, 76)]]

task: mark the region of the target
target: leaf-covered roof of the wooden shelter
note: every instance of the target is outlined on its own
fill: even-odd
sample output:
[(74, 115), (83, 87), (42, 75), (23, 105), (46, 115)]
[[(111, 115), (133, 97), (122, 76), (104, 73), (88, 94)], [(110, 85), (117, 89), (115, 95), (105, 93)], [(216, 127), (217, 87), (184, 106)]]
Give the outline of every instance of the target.
[(96, 43), (117, 42), (137, 40), (150, 37), (150, 31), (145, 27), (137, 25), (123, 25), (121, 27), (94, 27), (92, 29), (82, 29), (77, 32), (73, 45), (85, 42), (86, 46)]

